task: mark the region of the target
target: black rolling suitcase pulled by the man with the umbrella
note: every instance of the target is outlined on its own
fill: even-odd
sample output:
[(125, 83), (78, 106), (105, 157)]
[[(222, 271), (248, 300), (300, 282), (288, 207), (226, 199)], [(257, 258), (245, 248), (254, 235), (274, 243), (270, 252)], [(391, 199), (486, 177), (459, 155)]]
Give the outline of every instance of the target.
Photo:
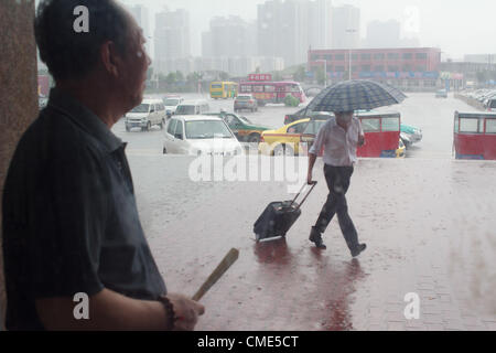
[(301, 215), (301, 205), (309, 197), (310, 193), (316, 185), (314, 181), (306, 192), (305, 196), (300, 204), (296, 203), (296, 199), (300, 196), (301, 192), (308, 184), (305, 183), (300, 192), (291, 201), (278, 201), (271, 202), (266, 210), (262, 212), (260, 217), (254, 224), (254, 233), (257, 242), (273, 238), (273, 237), (284, 237), (291, 226), (296, 222)]

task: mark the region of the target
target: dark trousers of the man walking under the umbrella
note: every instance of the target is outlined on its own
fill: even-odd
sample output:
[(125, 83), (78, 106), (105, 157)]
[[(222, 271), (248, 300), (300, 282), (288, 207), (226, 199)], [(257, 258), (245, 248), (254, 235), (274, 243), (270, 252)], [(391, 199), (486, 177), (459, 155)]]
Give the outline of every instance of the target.
[(343, 236), (351, 250), (358, 246), (358, 234), (349, 217), (345, 196), (349, 188), (352, 174), (353, 167), (332, 167), (325, 164), (324, 175), (330, 192), (327, 201), (322, 207), (319, 220), (315, 223), (315, 229), (324, 233), (334, 215), (337, 214), (341, 232), (343, 232)]

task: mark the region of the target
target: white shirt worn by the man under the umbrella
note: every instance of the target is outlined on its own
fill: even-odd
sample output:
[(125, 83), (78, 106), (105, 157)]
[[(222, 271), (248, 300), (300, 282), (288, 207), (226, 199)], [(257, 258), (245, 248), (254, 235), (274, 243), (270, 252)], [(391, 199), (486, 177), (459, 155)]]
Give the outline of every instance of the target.
[(325, 164), (352, 167), (357, 161), (356, 148), (360, 135), (364, 135), (364, 130), (356, 117), (353, 117), (347, 131), (338, 126), (333, 117), (321, 127), (309, 153), (319, 156), (324, 147)]

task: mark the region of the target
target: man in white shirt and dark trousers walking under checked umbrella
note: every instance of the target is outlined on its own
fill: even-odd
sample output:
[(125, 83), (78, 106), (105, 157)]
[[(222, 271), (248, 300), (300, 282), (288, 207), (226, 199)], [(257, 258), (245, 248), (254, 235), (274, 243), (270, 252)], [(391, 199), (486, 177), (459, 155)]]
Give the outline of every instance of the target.
[(335, 118), (328, 119), (319, 130), (309, 151), (309, 184), (312, 183), (312, 170), (316, 157), (324, 148), (324, 175), (330, 190), (327, 201), (310, 233), (310, 240), (315, 243), (317, 248), (325, 249), (322, 234), (334, 215), (337, 214), (346, 244), (352, 252), (352, 256), (356, 257), (365, 250), (366, 245), (358, 243), (358, 234), (349, 217), (345, 195), (349, 188), (353, 165), (357, 161), (356, 149), (365, 143), (365, 137), (360, 121), (354, 117), (353, 111), (335, 113), (334, 115)]

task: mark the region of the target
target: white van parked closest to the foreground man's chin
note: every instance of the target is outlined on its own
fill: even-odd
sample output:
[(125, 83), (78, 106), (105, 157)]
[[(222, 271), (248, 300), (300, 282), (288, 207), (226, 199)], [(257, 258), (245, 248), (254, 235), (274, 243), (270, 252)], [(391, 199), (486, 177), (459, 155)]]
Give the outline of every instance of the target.
[(126, 131), (130, 131), (132, 128), (149, 131), (155, 125), (163, 129), (165, 118), (165, 106), (162, 99), (143, 99), (139, 106), (126, 114)]

